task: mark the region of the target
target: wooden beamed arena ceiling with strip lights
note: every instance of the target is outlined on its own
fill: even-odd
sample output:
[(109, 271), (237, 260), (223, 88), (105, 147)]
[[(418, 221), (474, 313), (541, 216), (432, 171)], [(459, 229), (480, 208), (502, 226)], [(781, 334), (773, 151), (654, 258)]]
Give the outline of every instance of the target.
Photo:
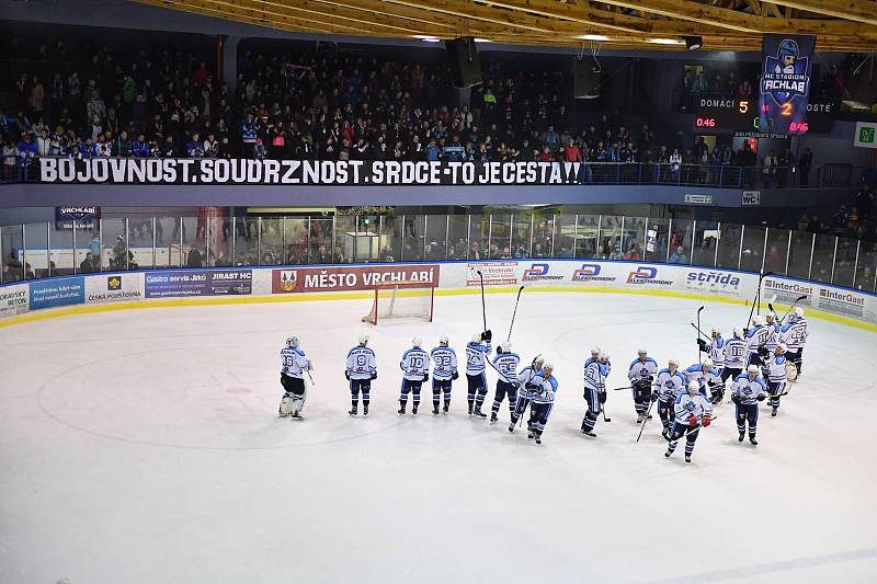
[(820, 51), (877, 49), (877, 0), (135, 0), (309, 34), (508, 45), (759, 50), (763, 33), (816, 34)]

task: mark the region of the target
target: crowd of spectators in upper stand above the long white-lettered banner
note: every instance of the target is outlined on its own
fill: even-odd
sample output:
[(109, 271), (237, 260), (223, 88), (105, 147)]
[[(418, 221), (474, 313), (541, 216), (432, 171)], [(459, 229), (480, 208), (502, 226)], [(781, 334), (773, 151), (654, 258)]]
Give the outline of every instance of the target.
[(694, 165), (745, 162), (730, 147), (682, 149), (618, 110), (573, 112), (561, 70), (489, 65), (457, 105), (444, 61), (243, 49), (232, 91), (200, 55), (104, 45), (77, 60), (48, 45), (11, 67), (7, 176), (38, 156), (654, 162), (692, 182), (713, 180)]

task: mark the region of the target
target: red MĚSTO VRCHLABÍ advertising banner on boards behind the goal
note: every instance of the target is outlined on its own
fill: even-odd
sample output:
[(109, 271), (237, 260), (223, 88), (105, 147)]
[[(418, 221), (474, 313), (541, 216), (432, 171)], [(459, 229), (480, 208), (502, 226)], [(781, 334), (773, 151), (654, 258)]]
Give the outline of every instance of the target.
[(438, 286), (438, 265), (291, 267), (274, 270), (271, 293), (371, 290), (378, 284)]

